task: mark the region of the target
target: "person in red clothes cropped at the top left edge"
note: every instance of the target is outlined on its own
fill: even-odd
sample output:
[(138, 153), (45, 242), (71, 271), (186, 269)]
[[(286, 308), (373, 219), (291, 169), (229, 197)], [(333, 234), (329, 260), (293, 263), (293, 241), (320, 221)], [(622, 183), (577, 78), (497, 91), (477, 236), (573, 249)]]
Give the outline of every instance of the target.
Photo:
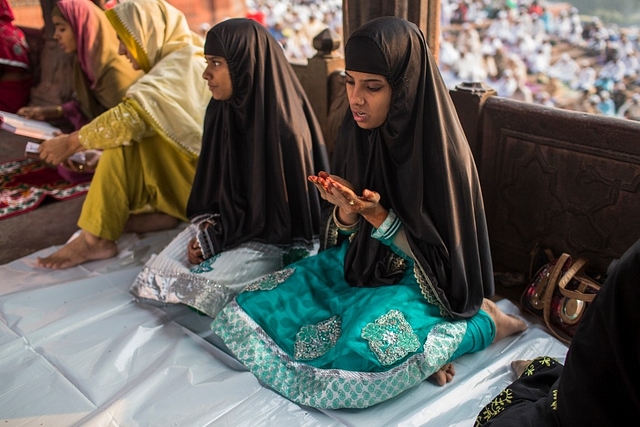
[(27, 105), (33, 82), (29, 45), (14, 19), (9, 2), (0, 0), (0, 110), (8, 113)]

